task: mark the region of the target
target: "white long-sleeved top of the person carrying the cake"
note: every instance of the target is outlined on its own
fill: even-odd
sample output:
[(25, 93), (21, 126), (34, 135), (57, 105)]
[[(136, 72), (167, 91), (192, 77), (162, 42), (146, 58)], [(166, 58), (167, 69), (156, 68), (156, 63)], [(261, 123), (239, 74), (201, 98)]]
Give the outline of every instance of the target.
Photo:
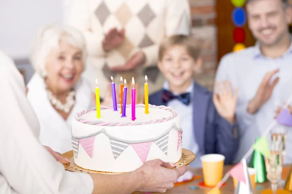
[(38, 123), (24, 83), (0, 52), (0, 191), (7, 194), (90, 194), (90, 175), (65, 171), (39, 144)]

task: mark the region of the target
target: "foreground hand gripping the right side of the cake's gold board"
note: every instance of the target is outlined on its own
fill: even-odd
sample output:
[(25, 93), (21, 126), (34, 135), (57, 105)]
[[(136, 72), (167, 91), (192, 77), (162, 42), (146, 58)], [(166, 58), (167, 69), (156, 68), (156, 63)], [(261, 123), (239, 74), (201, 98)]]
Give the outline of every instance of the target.
[(166, 163), (159, 159), (145, 162), (140, 168), (133, 171), (137, 178), (138, 191), (144, 192), (166, 192), (174, 186), (174, 182), (182, 176), (189, 168), (189, 165), (177, 169), (173, 163)]

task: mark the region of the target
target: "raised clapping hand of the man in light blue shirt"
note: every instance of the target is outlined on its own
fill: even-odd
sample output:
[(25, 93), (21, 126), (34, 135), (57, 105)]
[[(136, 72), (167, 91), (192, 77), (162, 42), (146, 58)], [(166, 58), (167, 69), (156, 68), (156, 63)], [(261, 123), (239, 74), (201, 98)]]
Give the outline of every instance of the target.
[(278, 77), (275, 78), (272, 84), (270, 84), (270, 81), (272, 77), (278, 72), (279, 72), (279, 69), (266, 73), (264, 79), (262, 80), (256, 92), (256, 96), (252, 99), (252, 101), (250, 101), (250, 103), (247, 106), (248, 113), (250, 114), (256, 113), (258, 109), (270, 99), (270, 97), (272, 96), (274, 87), (279, 81), (279, 78)]

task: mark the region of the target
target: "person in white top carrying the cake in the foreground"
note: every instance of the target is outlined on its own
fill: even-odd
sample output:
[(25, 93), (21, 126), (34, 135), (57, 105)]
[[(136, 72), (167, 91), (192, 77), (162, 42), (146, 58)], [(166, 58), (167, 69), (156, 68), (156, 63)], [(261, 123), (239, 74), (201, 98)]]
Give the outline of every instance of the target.
[[(0, 194), (165, 192), (188, 169), (170, 169), (173, 163), (153, 160), (120, 175), (66, 171), (56, 161), (59, 154), (39, 143), (39, 123), (26, 98), (23, 78), (12, 59), (1, 50), (0, 64), (0, 90), (4, 92), (0, 95)], [(51, 118), (51, 122), (55, 120)]]

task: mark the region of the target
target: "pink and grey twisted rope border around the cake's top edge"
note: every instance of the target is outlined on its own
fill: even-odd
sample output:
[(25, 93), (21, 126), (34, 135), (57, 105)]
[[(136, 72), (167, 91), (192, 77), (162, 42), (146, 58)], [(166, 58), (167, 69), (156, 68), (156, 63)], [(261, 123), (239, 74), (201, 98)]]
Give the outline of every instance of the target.
[[(121, 108), (121, 104), (119, 104), (117, 106), (118, 108)], [(127, 108), (131, 108), (131, 105), (127, 105)], [(136, 108), (144, 108), (145, 104), (136, 104)], [(100, 110), (105, 110), (105, 109), (112, 109), (113, 106), (101, 106)], [(105, 122), (105, 121), (92, 121), (89, 119), (85, 119), (82, 118), (82, 114), (88, 113), (88, 112), (92, 112), (92, 111), (96, 111), (96, 107), (93, 107), (91, 109), (85, 109), (83, 111), (80, 111), (79, 113), (76, 113), (74, 118), (76, 121), (79, 121), (81, 123), (85, 123), (85, 124), (89, 124), (89, 125), (98, 125), (98, 126), (133, 126), (133, 125), (148, 125), (148, 124), (153, 124), (153, 123), (161, 123), (161, 122), (165, 122), (165, 121), (169, 121), (173, 118), (175, 118), (178, 113), (171, 107), (167, 107), (167, 106), (155, 106), (155, 105), (151, 105), (149, 104), (149, 108), (154, 108), (154, 109), (162, 109), (162, 110), (166, 110), (171, 112), (171, 115), (167, 118), (162, 117), (160, 119), (155, 119), (155, 120), (151, 120), (151, 121), (146, 121), (146, 122)]]

